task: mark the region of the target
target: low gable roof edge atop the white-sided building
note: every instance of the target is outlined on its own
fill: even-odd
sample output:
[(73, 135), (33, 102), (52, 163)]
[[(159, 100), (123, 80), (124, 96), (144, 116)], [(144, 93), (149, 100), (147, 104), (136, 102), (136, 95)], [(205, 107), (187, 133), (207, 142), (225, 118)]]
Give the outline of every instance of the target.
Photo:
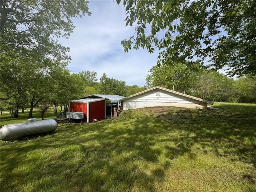
[(204, 100), (204, 99), (200, 99), (200, 98), (198, 98), (198, 97), (190, 96), (190, 95), (187, 95), (187, 94), (184, 94), (184, 93), (180, 93), (180, 92), (177, 92), (177, 91), (173, 91), (173, 90), (170, 90), (170, 89), (166, 89), (166, 88), (163, 88), (163, 87), (160, 87), (160, 86), (156, 86), (156, 87), (153, 87), (153, 88), (144, 90), (144, 91), (142, 91), (142, 92), (138, 92), (138, 93), (133, 94), (133, 95), (130, 95), (130, 96), (128, 96), (128, 97), (122, 98), (122, 99), (120, 99), (119, 101), (123, 101), (123, 100), (126, 100), (126, 99), (128, 99), (128, 98), (132, 98), (132, 97), (135, 97), (135, 96), (137, 96), (137, 95), (144, 94), (144, 93), (146, 93), (146, 92), (148, 92), (148, 91), (152, 91), (152, 90), (154, 90), (154, 89), (164, 90), (164, 91), (167, 91), (167, 92), (170, 92), (170, 93), (174, 93), (174, 94), (177, 94), (177, 95), (181, 95), (181, 96), (184, 96), (184, 97), (187, 97), (187, 98), (191, 98), (191, 99), (194, 99), (194, 100), (206, 102), (206, 103), (208, 103), (208, 104), (213, 104), (213, 102), (211, 102), (211, 101)]

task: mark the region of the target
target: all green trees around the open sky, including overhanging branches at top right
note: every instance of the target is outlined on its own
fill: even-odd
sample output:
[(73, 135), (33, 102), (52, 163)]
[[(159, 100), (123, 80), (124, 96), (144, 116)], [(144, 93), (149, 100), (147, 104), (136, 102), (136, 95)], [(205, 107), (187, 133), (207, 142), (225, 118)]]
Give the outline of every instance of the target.
[[(146, 77), (151, 86), (213, 101), (256, 102), (256, 1), (124, 0), (123, 5), (126, 25), (136, 25), (134, 36), (121, 42), (124, 52), (160, 50)], [(72, 18), (91, 15), (88, 1), (1, 0), (0, 12), (1, 111), (18, 117), (29, 107), (31, 118), (36, 106), (43, 116), (48, 106), (67, 110), (69, 100), (85, 95), (127, 96), (145, 89), (106, 74), (98, 82), (96, 72), (67, 70), (69, 48), (58, 40), (73, 32)]]

